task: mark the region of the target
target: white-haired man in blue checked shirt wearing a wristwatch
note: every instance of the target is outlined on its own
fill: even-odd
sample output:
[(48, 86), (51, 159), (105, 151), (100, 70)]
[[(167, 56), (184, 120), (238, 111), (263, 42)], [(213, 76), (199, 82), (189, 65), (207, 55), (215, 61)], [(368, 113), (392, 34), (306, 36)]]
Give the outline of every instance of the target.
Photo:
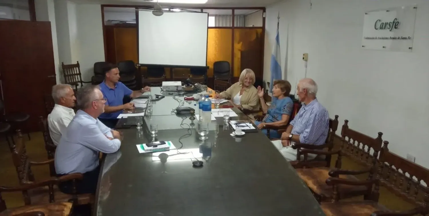
[[(299, 102), (303, 105), (295, 118), (290, 122), (286, 132), (281, 135), (283, 148), (280, 152), (288, 161), (296, 160), (296, 149), (290, 147), (294, 142), (302, 144), (325, 144), (329, 129), (329, 114), (319, 101), (317, 101), (317, 84), (310, 78), (299, 81), (296, 91)], [(308, 154), (308, 159), (316, 155)]]

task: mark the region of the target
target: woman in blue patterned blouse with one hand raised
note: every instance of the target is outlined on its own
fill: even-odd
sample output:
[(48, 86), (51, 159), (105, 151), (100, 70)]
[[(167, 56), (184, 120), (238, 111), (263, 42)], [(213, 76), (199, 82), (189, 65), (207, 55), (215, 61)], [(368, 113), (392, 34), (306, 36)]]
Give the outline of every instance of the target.
[[(263, 129), (266, 125), (273, 126), (284, 126), (289, 122), (289, 117), (293, 111), (293, 101), (289, 97), (290, 83), (286, 80), (274, 81), (274, 87), (272, 88), (272, 103), (268, 107), (263, 99), (264, 89), (258, 87), (258, 96), (263, 112), (266, 114), (262, 122), (255, 121), (255, 125), (262, 129), (264, 134), (267, 134), (267, 130)], [(276, 130), (270, 130), (270, 138), (280, 138)]]

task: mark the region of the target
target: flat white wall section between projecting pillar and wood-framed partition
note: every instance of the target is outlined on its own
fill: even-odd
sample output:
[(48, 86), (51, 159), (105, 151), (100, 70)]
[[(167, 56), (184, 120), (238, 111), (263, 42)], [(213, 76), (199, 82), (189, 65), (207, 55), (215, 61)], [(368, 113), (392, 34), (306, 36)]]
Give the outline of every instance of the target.
[(79, 63), (83, 81), (91, 81), (94, 63), (104, 61), (100, 4), (76, 4)]

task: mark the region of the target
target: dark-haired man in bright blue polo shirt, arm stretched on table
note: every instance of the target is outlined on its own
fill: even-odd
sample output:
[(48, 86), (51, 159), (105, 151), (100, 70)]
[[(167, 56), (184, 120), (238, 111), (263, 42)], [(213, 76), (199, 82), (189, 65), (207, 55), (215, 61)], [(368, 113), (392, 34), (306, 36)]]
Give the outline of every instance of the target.
[(141, 90), (133, 91), (119, 81), (121, 76), (119, 75), (118, 66), (107, 63), (103, 67), (105, 73), (104, 81), (100, 84), (101, 92), (104, 98), (107, 100), (104, 108), (104, 113), (98, 117), (109, 128), (114, 128), (118, 122), (118, 115), (122, 113), (124, 109), (134, 109), (133, 103), (124, 104), (124, 96), (130, 96), (136, 98), (142, 95), (142, 93), (151, 90), (151, 87), (144, 87)]

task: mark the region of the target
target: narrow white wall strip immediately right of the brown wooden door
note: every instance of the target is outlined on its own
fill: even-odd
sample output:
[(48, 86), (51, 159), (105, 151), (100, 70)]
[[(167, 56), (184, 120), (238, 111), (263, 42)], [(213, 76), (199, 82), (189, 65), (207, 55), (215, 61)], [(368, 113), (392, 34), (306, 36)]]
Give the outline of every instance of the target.
[(36, 0), (36, 21), (50, 21), (52, 31), (52, 45), (54, 48), (55, 75), (57, 83), (60, 83), (60, 68), (58, 57), (57, 26), (55, 22), (54, 0)]

